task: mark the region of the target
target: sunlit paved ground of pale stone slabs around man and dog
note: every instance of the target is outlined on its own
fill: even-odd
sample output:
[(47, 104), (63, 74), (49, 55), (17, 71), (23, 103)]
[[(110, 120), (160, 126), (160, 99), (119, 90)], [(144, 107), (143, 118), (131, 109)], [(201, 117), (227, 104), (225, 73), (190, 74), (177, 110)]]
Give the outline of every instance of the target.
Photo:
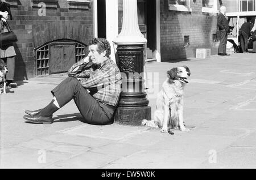
[(27, 123), (24, 110), (46, 106), (66, 74), (13, 84), (1, 98), (0, 168), (256, 168), (256, 54), (146, 63), (152, 113), (172, 67), (187, 65), (184, 121), (190, 132), (82, 123), (73, 101), (51, 125)]

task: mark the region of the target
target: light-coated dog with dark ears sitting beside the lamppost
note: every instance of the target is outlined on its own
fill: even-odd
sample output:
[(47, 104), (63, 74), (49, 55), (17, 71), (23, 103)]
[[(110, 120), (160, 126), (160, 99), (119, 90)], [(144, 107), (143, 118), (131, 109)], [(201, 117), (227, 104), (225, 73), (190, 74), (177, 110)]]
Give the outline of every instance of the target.
[(183, 122), (183, 89), (187, 78), (191, 75), (187, 66), (174, 67), (167, 71), (167, 79), (156, 98), (154, 120), (143, 119), (142, 126), (160, 127), (161, 132), (169, 132), (171, 128), (190, 131)]

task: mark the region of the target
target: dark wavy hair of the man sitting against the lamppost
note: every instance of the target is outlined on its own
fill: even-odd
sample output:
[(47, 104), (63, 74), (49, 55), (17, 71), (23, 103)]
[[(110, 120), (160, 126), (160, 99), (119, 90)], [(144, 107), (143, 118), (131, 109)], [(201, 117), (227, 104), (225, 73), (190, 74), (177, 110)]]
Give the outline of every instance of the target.
[(111, 47), (109, 44), (109, 41), (106, 40), (105, 38), (93, 38), (92, 41), (90, 41), (89, 45), (98, 45), (98, 53), (103, 53), (104, 50), (106, 50), (106, 57), (109, 57), (110, 53), (111, 53)]

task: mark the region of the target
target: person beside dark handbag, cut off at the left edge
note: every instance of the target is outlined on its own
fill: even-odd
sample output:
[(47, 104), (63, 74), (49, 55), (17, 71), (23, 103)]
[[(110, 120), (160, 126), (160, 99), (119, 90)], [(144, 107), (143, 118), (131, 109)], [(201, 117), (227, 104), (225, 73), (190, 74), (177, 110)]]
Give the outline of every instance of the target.
[[(2, 3), (5, 3), (6, 6), (6, 2), (5, 0), (0, 0), (0, 7), (5, 7), (5, 6), (1, 6)], [(3, 4), (2, 4), (3, 5)], [(7, 4), (8, 5), (8, 4)], [(4, 32), (8, 32), (9, 29), (7, 28), (7, 19), (9, 18), (13, 19), (10, 13), (10, 9), (9, 11), (7, 10), (2, 10), (0, 8), (0, 40), (1, 40), (1, 34)], [(6, 82), (7, 82), (7, 87), (10, 88), (10, 83), (13, 82), (14, 80), (14, 71), (15, 71), (15, 50), (14, 50), (14, 46), (13, 44), (5, 44), (2, 45), (0, 44), (0, 58), (1, 61), (5, 62), (7, 68), (8, 68), (8, 73), (6, 74)]]

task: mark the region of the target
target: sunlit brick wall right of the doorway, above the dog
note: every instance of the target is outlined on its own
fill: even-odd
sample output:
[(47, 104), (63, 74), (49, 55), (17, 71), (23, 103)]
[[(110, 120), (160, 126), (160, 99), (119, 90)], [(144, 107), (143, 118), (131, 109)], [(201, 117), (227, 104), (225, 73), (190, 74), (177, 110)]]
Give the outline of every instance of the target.
[[(217, 14), (202, 12), (202, 0), (196, 2), (191, 1), (192, 12), (184, 12), (170, 11), (168, 0), (160, 0), (160, 46), (163, 62), (196, 57), (196, 48), (210, 48), (211, 54), (217, 54), (218, 42), (212, 40), (217, 30)], [(184, 47), (184, 36), (189, 36), (189, 46)]]

